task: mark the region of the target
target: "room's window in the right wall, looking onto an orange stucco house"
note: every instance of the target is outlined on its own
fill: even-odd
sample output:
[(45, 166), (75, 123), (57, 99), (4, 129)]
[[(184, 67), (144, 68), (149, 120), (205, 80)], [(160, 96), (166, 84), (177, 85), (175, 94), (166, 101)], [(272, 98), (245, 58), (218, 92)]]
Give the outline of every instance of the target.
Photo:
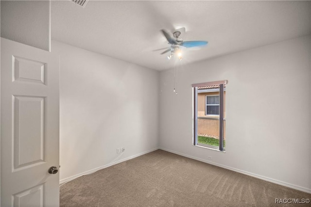
[(225, 151), (227, 80), (192, 84), (193, 144)]

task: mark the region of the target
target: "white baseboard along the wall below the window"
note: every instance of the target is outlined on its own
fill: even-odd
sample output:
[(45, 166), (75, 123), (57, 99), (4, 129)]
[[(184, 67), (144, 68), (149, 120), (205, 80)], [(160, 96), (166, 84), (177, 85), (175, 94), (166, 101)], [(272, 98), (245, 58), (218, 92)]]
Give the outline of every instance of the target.
[(225, 169), (232, 170), (232, 171), (235, 171), (235, 172), (238, 172), (238, 173), (242, 173), (244, 175), (249, 175), (249, 176), (252, 176), (252, 177), (256, 177), (256, 178), (259, 178), (261, 180), (265, 180), (265, 181), (268, 181), (268, 182), (276, 183), (276, 184), (281, 185), (281, 186), (286, 186), (286, 187), (289, 187), (289, 188), (292, 188), (292, 189), (295, 189), (295, 190), (298, 190), (298, 191), (304, 191), (304, 192), (311, 193), (311, 189), (308, 189), (308, 188), (305, 188), (305, 187), (297, 186), (297, 185), (294, 185), (294, 184), (291, 184), (291, 183), (286, 183), (286, 182), (283, 182), (283, 181), (280, 181), (280, 180), (276, 180), (276, 179), (273, 179), (273, 178), (270, 178), (270, 177), (265, 177), (265, 176), (249, 173), (249, 172), (237, 169), (237, 168), (233, 168), (233, 167), (229, 167), (229, 166), (226, 166), (226, 165), (218, 164), (216, 162), (211, 162), (211, 161), (208, 161), (208, 160), (205, 160), (205, 159), (200, 159), (200, 158), (196, 158), (196, 157), (193, 157), (193, 156), (190, 156), (190, 155), (186, 155), (186, 154), (183, 154), (183, 153), (175, 152), (175, 151), (170, 150), (170, 149), (166, 149), (166, 148), (162, 148), (162, 147), (159, 147), (159, 149), (167, 151), (167, 152), (171, 152), (171, 153), (174, 153), (174, 154), (186, 157), (186, 158), (195, 159), (195, 160), (206, 162), (208, 164), (215, 165), (215, 166), (218, 166), (218, 167), (221, 167), (221, 168), (225, 168)]

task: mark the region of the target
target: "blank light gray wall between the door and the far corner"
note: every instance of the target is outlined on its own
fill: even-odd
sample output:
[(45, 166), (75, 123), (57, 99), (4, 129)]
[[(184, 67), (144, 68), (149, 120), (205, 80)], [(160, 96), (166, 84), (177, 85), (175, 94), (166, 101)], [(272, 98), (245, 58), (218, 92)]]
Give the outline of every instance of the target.
[(60, 55), (61, 183), (158, 148), (158, 71), (54, 41), (52, 52)]

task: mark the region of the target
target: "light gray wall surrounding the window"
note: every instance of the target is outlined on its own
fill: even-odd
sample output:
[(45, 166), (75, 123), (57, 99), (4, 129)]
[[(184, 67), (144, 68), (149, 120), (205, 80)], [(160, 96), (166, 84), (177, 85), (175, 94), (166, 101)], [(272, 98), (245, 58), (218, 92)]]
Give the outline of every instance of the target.
[[(310, 36), (160, 73), (160, 147), (311, 192)], [(226, 152), (192, 146), (192, 83), (228, 80)], [(212, 159), (207, 159), (211, 156)]]

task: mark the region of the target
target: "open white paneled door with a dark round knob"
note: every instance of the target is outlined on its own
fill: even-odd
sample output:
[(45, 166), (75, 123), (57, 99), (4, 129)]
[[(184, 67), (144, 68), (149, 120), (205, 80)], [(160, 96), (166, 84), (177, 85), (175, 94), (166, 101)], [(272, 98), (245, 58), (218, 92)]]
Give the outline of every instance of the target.
[(59, 206), (59, 58), (1, 38), (0, 75), (1, 207)]

